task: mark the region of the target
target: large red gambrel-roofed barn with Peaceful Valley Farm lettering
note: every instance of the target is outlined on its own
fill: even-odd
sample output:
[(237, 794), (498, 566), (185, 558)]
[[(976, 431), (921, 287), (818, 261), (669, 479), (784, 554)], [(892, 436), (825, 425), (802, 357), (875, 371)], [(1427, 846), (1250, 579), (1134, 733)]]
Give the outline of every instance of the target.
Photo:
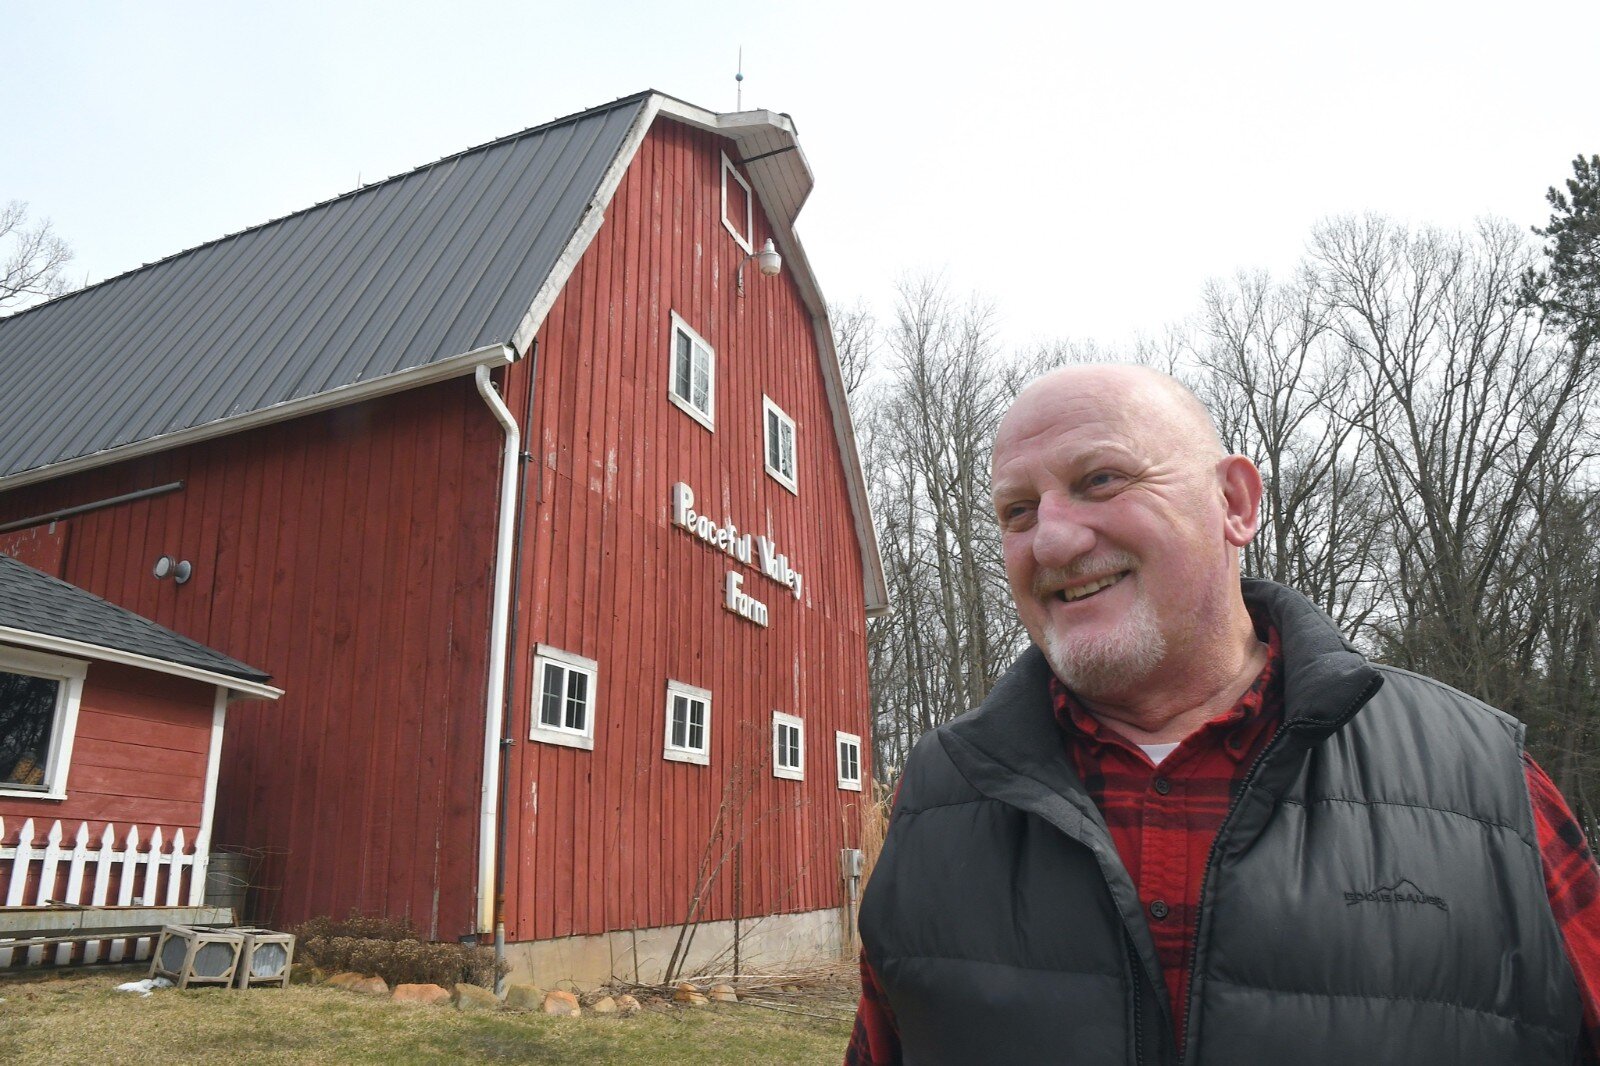
[(222, 747), (258, 917), (837, 949), (886, 603), (810, 189), (642, 93), (0, 320), (0, 552), (285, 691)]

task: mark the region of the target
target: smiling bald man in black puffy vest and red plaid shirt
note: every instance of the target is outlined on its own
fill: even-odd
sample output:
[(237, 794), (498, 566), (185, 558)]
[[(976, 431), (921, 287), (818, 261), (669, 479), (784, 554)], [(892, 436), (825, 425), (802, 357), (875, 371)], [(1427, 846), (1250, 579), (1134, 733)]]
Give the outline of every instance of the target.
[(1240, 583), (1259, 501), (1171, 378), (1018, 397), (994, 504), (1037, 647), (907, 762), (846, 1061), (1595, 1053), (1600, 871), (1520, 725)]

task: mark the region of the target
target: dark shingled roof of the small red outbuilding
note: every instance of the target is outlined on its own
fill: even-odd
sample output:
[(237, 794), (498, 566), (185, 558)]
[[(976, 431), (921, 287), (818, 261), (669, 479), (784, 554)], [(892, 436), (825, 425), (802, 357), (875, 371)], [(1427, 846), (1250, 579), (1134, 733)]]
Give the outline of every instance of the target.
[(157, 626), (149, 618), (34, 570), (10, 555), (0, 555), (0, 640), (32, 643), (56, 651), (64, 650), (62, 642), (122, 651), (142, 659), (192, 667), (208, 675), (250, 682), (251, 690), (270, 680), (269, 674), (254, 666)]

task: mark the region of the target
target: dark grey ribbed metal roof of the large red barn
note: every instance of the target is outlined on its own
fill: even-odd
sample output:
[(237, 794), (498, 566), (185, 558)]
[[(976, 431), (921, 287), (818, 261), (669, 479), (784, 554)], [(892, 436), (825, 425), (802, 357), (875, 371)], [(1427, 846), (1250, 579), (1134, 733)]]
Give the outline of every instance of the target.
[(0, 319), (0, 479), (509, 344), (648, 98)]

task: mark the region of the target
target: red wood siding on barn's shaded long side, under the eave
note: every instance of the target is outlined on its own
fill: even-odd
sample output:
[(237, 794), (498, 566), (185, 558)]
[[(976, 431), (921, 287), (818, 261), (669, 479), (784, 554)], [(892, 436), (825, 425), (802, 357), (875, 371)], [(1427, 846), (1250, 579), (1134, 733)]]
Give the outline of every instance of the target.
[(472, 932), (499, 455), (469, 378), (0, 495), (3, 523), (186, 482), (61, 523), (59, 575), (286, 690), (230, 711), (218, 789), (214, 844), (269, 855), (259, 917)]

